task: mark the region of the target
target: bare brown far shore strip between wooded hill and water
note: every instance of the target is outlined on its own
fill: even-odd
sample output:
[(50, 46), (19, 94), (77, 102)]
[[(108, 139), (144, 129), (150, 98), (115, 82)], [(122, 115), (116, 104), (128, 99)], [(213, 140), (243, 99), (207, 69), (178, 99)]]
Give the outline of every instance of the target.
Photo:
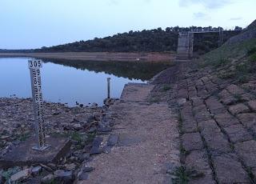
[(5, 57), (33, 57), (83, 61), (129, 61), (166, 62), (173, 61), (175, 53), (108, 53), (108, 52), (56, 52), (56, 53), (0, 53)]

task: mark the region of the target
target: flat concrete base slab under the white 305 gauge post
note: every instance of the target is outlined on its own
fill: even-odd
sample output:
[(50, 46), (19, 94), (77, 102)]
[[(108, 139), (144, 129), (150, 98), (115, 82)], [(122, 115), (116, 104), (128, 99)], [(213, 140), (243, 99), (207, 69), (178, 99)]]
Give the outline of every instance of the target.
[(21, 142), (0, 160), (0, 168), (30, 166), (38, 163), (57, 162), (70, 150), (71, 142), (67, 138), (46, 138), (50, 145), (46, 150), (33, 150), (36, 138)]

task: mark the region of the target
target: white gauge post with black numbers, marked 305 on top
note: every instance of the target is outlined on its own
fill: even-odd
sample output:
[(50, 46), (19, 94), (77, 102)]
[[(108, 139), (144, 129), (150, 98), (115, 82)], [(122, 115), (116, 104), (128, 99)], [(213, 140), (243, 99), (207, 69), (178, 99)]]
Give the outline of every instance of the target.
[(30, 69), (31, 90), (34, 106), (34, 126), (36, 136), (38, 138), (37, 146), (33, 146), (33, 150), (46, 150), (50, 145), (46, 144), (46, 128), (44, 120), (44, 106), (42, 101), (42, 86), (40, 68), (42, 61), (31, 59), (28, 61)]

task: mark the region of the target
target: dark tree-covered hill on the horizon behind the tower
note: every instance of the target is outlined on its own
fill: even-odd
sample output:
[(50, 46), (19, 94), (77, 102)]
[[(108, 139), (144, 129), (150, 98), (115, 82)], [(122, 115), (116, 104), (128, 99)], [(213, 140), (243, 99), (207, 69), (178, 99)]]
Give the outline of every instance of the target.
[[(94, 38), (88, 41), (67, 43), (58, 46), (43, 46), (36, 50), (0, 50), (0, 52), (170, 52), (176, 51), (178, 45), (178, 32), (189, 30), (219, 30), (220, 27), (167, 27), (154, 30), (132, 31), (114, 34), (106, 38)], [(238, 32), (241, 27), (236, 27)], [(224, 42), (238, 34), (226, 32)], [(194, 51), (205, 54), (218, 48), (218, 32), (208, 34), (195, 34)]]

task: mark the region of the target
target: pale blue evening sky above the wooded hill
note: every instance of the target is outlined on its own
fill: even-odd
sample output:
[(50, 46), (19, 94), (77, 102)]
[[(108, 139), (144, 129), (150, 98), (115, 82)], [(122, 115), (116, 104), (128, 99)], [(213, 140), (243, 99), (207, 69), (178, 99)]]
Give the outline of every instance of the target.
[(0, 49), (35, 49), (170, 26), (246, 27), (255, 0), (0, 0)]

